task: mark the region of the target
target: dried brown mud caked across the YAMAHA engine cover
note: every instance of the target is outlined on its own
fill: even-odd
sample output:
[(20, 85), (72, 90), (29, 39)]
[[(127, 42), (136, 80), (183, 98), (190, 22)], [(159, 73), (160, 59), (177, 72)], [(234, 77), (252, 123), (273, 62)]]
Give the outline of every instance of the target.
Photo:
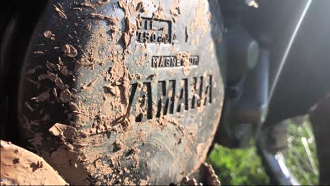
[[(175, 2), (169, 13), (164, 11), (161, 4), (158, 7), (155, 5), (154, 7), (157, 8), (152, 13), (152, 18), (173, 20), (173, 23), (177, 23), (181, 15), (181, 8), (178, 6), (179, 1)], [(139, 171), (142, 166), (145, 166), (141, 163), (145, 162), (141, 161), (141, 157), (143, 155), (142, 146), (148, 140), (147, 135), (151, 138), (154, 130), (163, 132), (173, 128), (176, 132), (168, 130), (166, 135), (173, 138), (172, 141), (177, 141), (173, 145), (176, 149), (180, 148), (183, 151), (182, 156), (198, 154), (198, 156), (194, 156), (196, 162), (191, 168), (186, 168), (183, 163), (181, 169), (190, 172), (175, 175), (175, 180), (181, 180), (183, 175), (190, 175), (200, 168), (207, 156), (206, 149), (211, 145), (212, 137), (205, 135), (203, 137), (207, 138), (207, 141), (197, 142), (197, 123), (194, 123), (195, 128), (187, 128), (177, 118), (163, 116), (162, 113), (158, 118), (146, 120), (143, 124), (147, 126), (145, 130), (140, 127), (141, 123), (135, 123), (135, 116), (147, 118), (148, 111), (145, 97), (140, 97), (134, 108), (130, 106), (130, 89), (133, 82), (136, 82), (139, 94), (148, 91), (147, 85), (140, 82), (141, 78), (152, 80), (152, 86), (157, 83), (154, 80), (156, 74), (142, 77), (141, 73), (131, 73), (128, 70), (128, 66), (133, 65), (128, 58), (133, 56), (134, 50), (143, 54), (135, 59), (136, 66), (140, 67), (149, 63), (147, 59), (151, 54), (146, 49), (147, 43), (134, 46), (132, 42), (133, 36), (141, 26), (140, 13), (147, 13), (147, 10), (142, 1), (118, 1), (116, 6), (123, 11), (123, 20), (115, 16), (106, 16), (108, 13), (103, 11), (95, 11), (109, 3), (110, 1), (86, 0), (81, 4), (70, 4), (70, 8), (65, 7), (63, 3), (56, 3), (52, 7), (56, 11), (55, 16), (59, 16), (59, 20), (63, 21), (63, 24), (67, 20), (73, 19), (75, 12), (85, 13), (84, 18), (76, 16), (77, 23), (74, 24), (83, 24), (83, 21), (92, 20), (84, 27), (84, 31), (87, 31), (90, 38), (88, 41), (80, 43), (80, 40), (84, 38), (77, 33), (80, 30), (72, 28), (73, 25), (67, 25), (67, 27), (70, 26), (70, 30), (73, 30), (66, 35), (67, 39), (60, 38), (61, 33), (57, 33), (55, 30), (48, 28), (42, 30), (43, 39), (46, 39), (45, 42), (51, 42), (53, 48), (38, 49), (35, 51), (35, 55), (47, 56), (47, 53), (50, 54), (50, 51), (54, 51), (56, 60), (47, 58), (39, 63), (43, 70), (33, 67), (28, 68), (25, 72), (25, 76), (35, 82), (34, 85), (41, 93), (24, 100), (24, 106), (28, 109), (28, 112), (25, 112), (25, 115), (20, 118), (24, 133), (27, 134), (30, 144), (37, 153), (44, 157), (71, 185), (145, 185), (149, 182), (149, 178), (135, 178), (133, 171)], [(191, 42), (191, 45), (198, 45), (199, 38), (209, 29), (210, 24), (206, 23), (207, 18), (204, 16), (203, 7), (204, 4), (198, 4), (196, 18), (193, 23), (187, 25), (185, 30), (187, 35), (185, 40)], [(123, 30), (118, 26), (120, 23), (121, 26), (124, 25)], [(202, 35), (195, 36), (196, 30), (202, 30)], [(54, 34), (56, 34), (56, 39), (51, 39), (55, 38)], [(107, 37), (108, 35), (111, 37)], [(59, 41), (60, 39), (61, 41)], [(53, 42), (57, 43), (53, 44)], [(175, 50), (175, 45), (171, 47), (172, 49)], [(191, 75), (190, 58), (192, 54), (189, 51), (176, 51), (176, 54), (173, 54), (173, 51), (171, 51), (171, 55), (176, 56), (178, 61), (183, 61), (183, 75), (185, 77)], [(206, 73), (205, 71), (200, 76), (206, 79)], [(183, 84), (183, 81), (180, 83)], [(206, 80), (204, 84), (206, 84)], [(192, 92), (195, 97), (193, 86), (188, 91)], [(176, 93), (171, 90), (169, 95), (177, 100), (180, 92)], [(204, 105), (207, 104), (207, 93), (196, 97), (197, 99), (201, 100), (200, 106), (196, 106), (197, 113), (203, 113)], [(152, 113), (155, 115), (158, 105), (155, 101), (151, 104)], [(219, 105), (222, 105), (220, 101)], [(63, 111), (51, 113), (53, 108), (60, 108), (59, 110)], [(132, 110), (135, 111), (135, 116), (131, 113)], [(27, 116), (32, 112), (39, 113), (39, 116), (43, 116), (43, 118), (33, 117), (33, 114)], [(57, 116), (53, 115), (56, 114), (61, 115), (59, 118), (64, 119), (54, 120)], [(214, 111), (215, 119), (212, 121), (215, 123), (212, 123), (214, 132), (220, 115), (221, 107)], [(182, 117), (183, 113), (178, 113), (178, 118)], [(202, 120), (198, 122), (200, 125), (203, 124)], [(139, 128), (139, 130), (133, 133), (135, 128)], [(116, 140), (113, 144), (109, 144), (111, 132), (116, 132)], [(213, 136), (214, 132), (210, 135)], [(133, 137), (136, 138), (135, 141), (127, 144), (128, 140)], [(155, 146), (159, 150), (164, 150), (166, 149), (163, 147), (165, 144), (166, 142), (157, 142)], [(166, 150), (173, 151), (173, 149)], [(153, 152), (143, 153), (149, 158)], [(175, 153), (171, 152), (171, 156), (174, 156), (172, 154)], [(121, 162), (131, 162), (130, 167), (123, 166)], [(171, 163), (176, 165), (181, 162), (174, 159)], [(157, 169), (157, 166), (156, 162), (151, 168)]]

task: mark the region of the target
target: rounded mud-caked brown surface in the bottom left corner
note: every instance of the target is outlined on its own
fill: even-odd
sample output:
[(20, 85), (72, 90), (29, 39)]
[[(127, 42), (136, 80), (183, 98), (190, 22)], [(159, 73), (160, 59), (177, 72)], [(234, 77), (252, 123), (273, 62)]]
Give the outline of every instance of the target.
[(0, 140), (0, 185), (68, 185), (37, 154)]

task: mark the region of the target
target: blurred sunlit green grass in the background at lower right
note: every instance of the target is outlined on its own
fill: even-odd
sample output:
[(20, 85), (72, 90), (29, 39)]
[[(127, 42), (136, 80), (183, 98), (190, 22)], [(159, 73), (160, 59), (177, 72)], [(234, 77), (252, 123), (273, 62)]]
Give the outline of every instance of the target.
[[(286, 120), (288, 149), (283, 151), (291, 173), (302, 185), (317, 185), (318, 162), (312, 127), (307, 116), (302, 124)], [(255, 147), (228, 149), (215, 144), (207, 159), (219, 176), (221, 185), (269, 185), (270, 178), (264, 170)]]

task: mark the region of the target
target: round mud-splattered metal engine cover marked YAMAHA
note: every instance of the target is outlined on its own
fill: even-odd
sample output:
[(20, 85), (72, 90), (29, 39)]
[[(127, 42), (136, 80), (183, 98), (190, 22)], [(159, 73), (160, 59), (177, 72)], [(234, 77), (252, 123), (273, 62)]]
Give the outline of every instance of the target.
[(223, 31), (213, 1), (51, 1), (23, 61), (23, 137), (71, 184), (178, 182), (220, 120)]

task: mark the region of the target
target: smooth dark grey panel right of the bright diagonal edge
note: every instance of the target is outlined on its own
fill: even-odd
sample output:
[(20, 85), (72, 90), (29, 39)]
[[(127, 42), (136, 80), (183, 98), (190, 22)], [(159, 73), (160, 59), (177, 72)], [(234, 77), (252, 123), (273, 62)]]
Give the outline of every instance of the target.
[[(326, 19), (329, 17), (326, 8), (329, 3), (305, 2), (305, 7), (309, 8), (274, 87), (267, 123), (307, 113), (330, 92), (330, 21)], [(303, 16), (304, 11), (300, 13)]]

